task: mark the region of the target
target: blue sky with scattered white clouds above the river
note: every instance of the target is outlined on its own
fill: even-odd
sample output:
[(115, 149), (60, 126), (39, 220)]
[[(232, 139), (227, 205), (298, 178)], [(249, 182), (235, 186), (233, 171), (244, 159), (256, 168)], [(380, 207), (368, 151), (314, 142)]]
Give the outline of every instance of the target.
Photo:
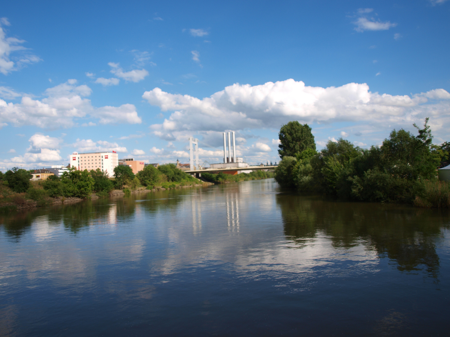
[[(73, 151), (278, 161), (278, 131), (381, 144), (430, 117), (450, 141), (450, 1), (9, 1), (0, 9), (0, 170)], [(206, 146), (217, 146), (217, 149)]]

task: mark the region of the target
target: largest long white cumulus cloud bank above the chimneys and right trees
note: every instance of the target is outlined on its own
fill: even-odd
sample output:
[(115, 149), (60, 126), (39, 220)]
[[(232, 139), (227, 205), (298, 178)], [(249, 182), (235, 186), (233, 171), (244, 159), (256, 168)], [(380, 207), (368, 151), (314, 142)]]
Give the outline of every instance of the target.
[[(173, 111), (150, 126), (162, 139), (182, 139), (193, 132), (279, 128), (291, 120), (302, 123), (368, 121), (380, 128), (410, 126), (430, 117), (433, 132), (450, 128), (450, 94), (390, 95), (372, 93), (365, 83), (310, 87), (293, 79), (261, 85), (233, 84), (207, 98), (172, 94), (155, 88), (142, 97), (162, 111)], [(435, 120), (435, 122), (433, 122)]]

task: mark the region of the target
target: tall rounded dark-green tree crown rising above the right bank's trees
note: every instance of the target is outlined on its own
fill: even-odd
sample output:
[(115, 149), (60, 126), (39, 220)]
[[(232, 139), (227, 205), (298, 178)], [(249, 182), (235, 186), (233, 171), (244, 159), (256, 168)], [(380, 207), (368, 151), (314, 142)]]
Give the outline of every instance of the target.
[(302, 125), (294, 120), (283, 125), (278, 136), (280, 140), (278, 153), (281, 159), (285, 156), (295, 157), (308, 148), (315, 150), (314, 136), (308, 124)]

